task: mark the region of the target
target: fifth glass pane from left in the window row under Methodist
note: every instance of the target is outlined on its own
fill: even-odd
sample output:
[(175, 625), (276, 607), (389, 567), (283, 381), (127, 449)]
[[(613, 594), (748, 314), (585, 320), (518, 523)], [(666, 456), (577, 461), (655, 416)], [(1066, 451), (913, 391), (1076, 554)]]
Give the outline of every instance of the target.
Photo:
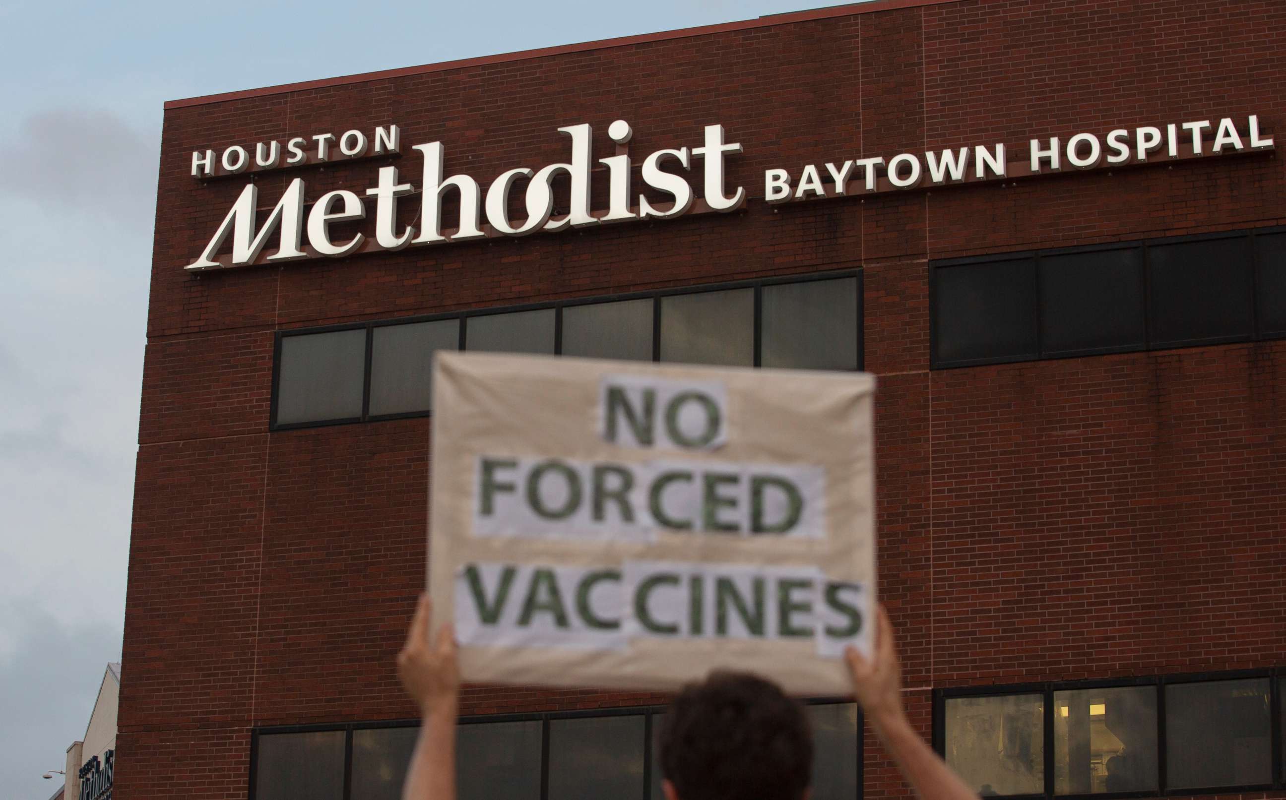
[(755, 289), (661, 298), (661, 360), (755, 365)]

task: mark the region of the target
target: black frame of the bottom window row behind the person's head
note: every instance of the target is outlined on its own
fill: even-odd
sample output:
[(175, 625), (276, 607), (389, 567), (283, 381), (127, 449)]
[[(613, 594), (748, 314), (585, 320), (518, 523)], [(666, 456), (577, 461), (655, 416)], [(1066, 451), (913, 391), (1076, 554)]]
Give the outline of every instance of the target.
[[(847, 705), (855, 701), (851, 697), (809, 697), (801, 700), (805, 706)], [(652, 792), (652, 745), (656, 741), (656, 728), (653, 718), (665, 714), (667, 705), (642, 705), (642, 706), (615, 706), (610, 709), (575, 709), (566, 711), (527, 711), (517, 714), (471, 714), (460, 716), (458, 725), (478, 725), (487, 723), (512, 722), (540, 722), (540, 797), (549, 800), (549, 723), (556, 719), (586, 719), (604, 716), (644, 716), (643, 720), (643, 783), (640, 786), (642, 799), (649, 800)], [(858, 705), (856, 740), (854, 758), (858, 767), (858, 796), (862, 800), (865, 794), (863, 760), (865, 756), (864, 729), (865, 719), (862, 706)], [(419, 719), (388, 719), (372, 722), (349, 723), (309, 723), (297, 725), (260, 725), (251, 729), (249, 738), (249, 788), (247, 800), (256, 800), (256, 779), (258, 777), (258, 737), (278, 733), (318, 733), (331, 731), (343, 731), (343, 800), (350, 800), (352, 792), (352, 734), (355, 731), (379, 728), (418, 728)]]

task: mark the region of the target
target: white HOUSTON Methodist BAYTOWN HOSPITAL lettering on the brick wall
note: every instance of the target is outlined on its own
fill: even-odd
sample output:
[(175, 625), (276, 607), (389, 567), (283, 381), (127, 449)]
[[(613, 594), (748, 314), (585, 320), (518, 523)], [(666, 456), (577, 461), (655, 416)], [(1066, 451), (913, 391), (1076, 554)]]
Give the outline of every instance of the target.
[[(367, 217), (367, 206), (356, 192), (337, 189), (319, 197), (305, 219), (305, 183), (296, 177), (287, 186), (267, 219), (258, 225), (256, 205), (258, 186), (247, 185), (201, 256), (189, 270), (224, 266), (246, 266), (257, 262), (296, 261), (316, 257), (342, 257), (358, 252), (401, 250), (409, 246), (467, 242), (486, 237), (525, 237), (536, 232), (557, 233), (570, 228), (589, 228), (608, 223), (649, 219), (673, 219), (693, 211), (736, 211), (746, 203), (746, 190), (732, 192), (724, 185), (724, 158), (742, 152), (738, 143), (728, 143), (721, 125), (705, 126), (703, 143), (697, 147), (660, 149), (643, 158), (640, 177), (655, 192), (667, 195), (666, 202), (652, 202), (646, 194), (633, 194), (629, 153), (593, 158), (593, 129), (589, 125), (559, 127), (571, 139), (571, 157), (540, 170), (516, 167), (496, 176), (484, 192), (469, 175), (444, 175), (445, 148), (441, 141), (417, 144), (412, 149), (422, 157), (421, 210), (415, 225), (397, 226), (399, 198), (415, 192), (403, 183), (396, 166), (381, 167), (374, 186), (365, 190), (374, 198), (374, 235), (358, 233), (346, 242), (336, 242), (331, 225)], [(612, 122), (607, 135), (617, 145), (626, 144), (633, 130), (624, 120)], [(309, 144), (311, 143), (311, 144)], [(926, 153), (898, 153), (872, 158), (840, 158), (822, 165), (805, 165), (791, 171), (772, 168), (764, 172), (764, 195), (769, 203), (787, 203), (823, 198), (854, 197), (881, 192), (899, 192), (919, 186), (945, 186), (998, 179), (1019, 179), (1062, 170), (1093, 170), (1103, 166), (1127, 166), (1168, 159), (1222, 156), (1247, 150), (1273, 149), (1273, 140), (1259, 130), (1259, 118), (1250, 116), (1244, 127), (1226, 117), (1217, 121), (1172, 123), (1164, 127), (1143, 126), (1116, 129), (1100, 136), (1083, 132), (1061, 140), (1031, 139), (1028, 161), (1010, 162), (1006, 145), (975, 145)], [(302, 166), (333, 159), (352, 159), (400, 152), (396, 125), (377, 127), (369, 136), (364, 131), (296, 136), (284, 143), (260, 141), (252, 147), (233, 145), (221, 153), (195, 150), (192, 175), (212, 177)], [(253, 150), (253, 153), (251, 153)], [(698, 198), (685, 172), (697, 168), (701, 159), (702, 194)], [(590, 170), (594, 163), (607, 168), (607, 207), (595, 208), (590, 198)], [(824, 171), (823, 171), (824, 170)], [(570, 177), (566, 215), (554, 217), (553, 181), (559, 175)], [(526, 181), (522, 199), (526, 219), (509, 219), (509, 199), (514, 184)], [(442, 226), (442, 203), (448, 193), (459, 198), (459, 219), (454, 228)], [(655, 197), (655, 195), (653, 195)], [(484, 224), (485, 216), (485, 224)], [(269, 239), (279, 234), (278, 250), (261, 257)], [(307, 243), (305, 244), (305, 235)], [(231, 237), (231, 255), (219, 256)]]

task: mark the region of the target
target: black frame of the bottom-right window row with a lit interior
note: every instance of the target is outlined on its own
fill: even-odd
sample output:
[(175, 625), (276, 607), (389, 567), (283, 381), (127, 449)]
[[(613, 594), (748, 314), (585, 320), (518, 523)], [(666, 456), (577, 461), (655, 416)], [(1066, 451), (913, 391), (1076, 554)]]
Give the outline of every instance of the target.
[[(1166, 785), (1166, 737), (1165, 737), (1165, 687), (1177, 683), (1217, 683), (1220, 680), (1268, 679), (1269, 682), (1269, 711), (1272, 714), (1269, 725), (1272, 783), (1254, 783), (1242, 786), (1209, 786), (1200, 788), (1170, 788)], [(1156, 692), (1156, 790), (1127, 791), (1127, 792), (1089, 792), (1075, 795), (1055, 794), (1055, 758), (1053, 758), (1053, 695), (1055, 692), (1079, 689), (1115, 689), (1130, 687), (1154, 687)], [(1283, 755), (1282, 742), (1282, 702), (1281, 697), (1286, 688), (1286, 666), (1253, 669), (1253, 670), (1224, 670), (1210, 673), (1178, 673), (1170, 675), (1148, 675), (1128, 678), (1097, 678), (1087, 680), (1052, 680), (1039, 683), (1011, 683), (997, 686), (966, 686), (946, 687), (934, 689), (934, 719), (932, 719), (932, 746), (939, 756), (946, 758), (946, 701), (959, 697), (1004, 697), (1011, 695), (1040, 695), (1044, 701), (1044, 794), (1040, 795), (1001, 795), (1004, 800), (1118, 800), (1124, 797), (1163, 797), (1179, 796), (1193, 797), (1204, 795), (1228, 795), (1240, 792), (1280, 791), (1286, 788), (1282, 774)]]

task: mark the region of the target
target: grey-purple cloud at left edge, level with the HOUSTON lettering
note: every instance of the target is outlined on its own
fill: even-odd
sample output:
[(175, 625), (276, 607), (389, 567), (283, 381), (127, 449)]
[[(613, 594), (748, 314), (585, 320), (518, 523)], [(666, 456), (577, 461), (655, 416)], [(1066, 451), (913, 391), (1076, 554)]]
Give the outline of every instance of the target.
[(36, 113), (23, 120), (15, 140), (0, 145), (0, 192), (145, 226), (154, 208), (157, 144), (109, 111)]

